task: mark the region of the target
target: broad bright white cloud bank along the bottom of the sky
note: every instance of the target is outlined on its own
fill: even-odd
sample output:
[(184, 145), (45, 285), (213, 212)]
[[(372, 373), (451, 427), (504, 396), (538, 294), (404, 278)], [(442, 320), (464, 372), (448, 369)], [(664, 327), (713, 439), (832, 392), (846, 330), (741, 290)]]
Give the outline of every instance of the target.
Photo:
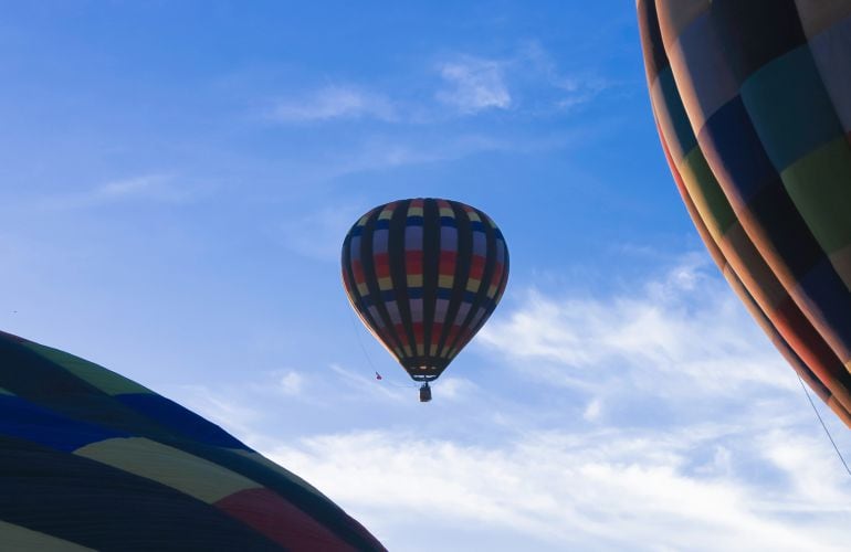
[[(445, 550), (438, 535), (412, 539), (403, 528), (416, 520), (455, 538), (465, 528), (480, 548), (522, 534), (535, 550), (843, 550), (851, 507), (842, 474), (819, 471), (821, 487), (833, 490), (807, 496), (799, 491), (810, 482), (807, 470), (768, 455), (765, 468), (781, 477), (749, 478), (744, 460), (782, 446), (779, 436), (758, 435), (755, 427), (551, 432), (494, 448), (360, 432), (267, 453), (346, 505), (391, 549)], [(735, 461), (717, 450), (728, 443), (745, 458), (740, 473), (725, 476)], [(819, 466), (824, 458), (813, 445), (792, 446), (801, 463)], [(719, 467), (690, 469), (705, 446), (715, 446)], [(463, 541), (451, 548), (463, 549)]]

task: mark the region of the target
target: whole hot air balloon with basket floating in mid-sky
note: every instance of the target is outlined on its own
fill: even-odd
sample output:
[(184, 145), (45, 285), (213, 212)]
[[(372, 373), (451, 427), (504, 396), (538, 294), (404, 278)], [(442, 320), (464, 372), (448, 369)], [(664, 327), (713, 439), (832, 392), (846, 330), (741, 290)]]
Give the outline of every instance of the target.
[(408, 374), (429, 382), (475, 336), (508, 280), (508, 250), (482, 211), (411, 199), (361, 216), (343, 243), (343, 283), (356, 312)]

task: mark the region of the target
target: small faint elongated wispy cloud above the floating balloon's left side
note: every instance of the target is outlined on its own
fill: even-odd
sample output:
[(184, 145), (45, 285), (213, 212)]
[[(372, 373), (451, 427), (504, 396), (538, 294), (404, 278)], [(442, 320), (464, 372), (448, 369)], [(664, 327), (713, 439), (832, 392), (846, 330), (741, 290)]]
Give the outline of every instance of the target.
[(333, 85), (298, 99), (283, 99), (270, 112), (280, 123), (325, 121), (332, 119), (397, 119), (397, 108), (387, 97), (351, 85)]

